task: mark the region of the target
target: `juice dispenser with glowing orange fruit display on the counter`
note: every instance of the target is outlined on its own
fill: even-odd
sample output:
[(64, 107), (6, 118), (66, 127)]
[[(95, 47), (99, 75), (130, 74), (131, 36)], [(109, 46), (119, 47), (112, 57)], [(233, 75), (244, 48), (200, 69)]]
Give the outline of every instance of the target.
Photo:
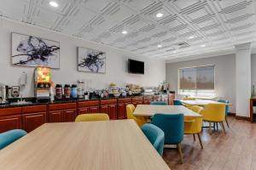
[(49, 99), (51, 82), (50, 68), (38, 66), (34, 71), (34, 75), (34, 89), (36, 99)]

